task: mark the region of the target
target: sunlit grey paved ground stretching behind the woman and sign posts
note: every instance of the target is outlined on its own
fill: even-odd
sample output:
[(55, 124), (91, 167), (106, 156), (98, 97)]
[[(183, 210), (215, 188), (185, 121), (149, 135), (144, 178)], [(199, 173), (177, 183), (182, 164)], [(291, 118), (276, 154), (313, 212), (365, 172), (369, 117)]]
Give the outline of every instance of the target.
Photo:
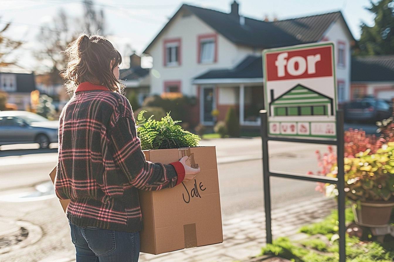
[[(202, 141), (201, 145), (217, 147), (225, 240), (223, 244), (154, 256), (157, 261), (180, 261), (179, 257), (184, 258), (182, 261), (193, 261), (197, 254), (203, 256), (204, 252), (212, 255), (205, 255), (204, 259), (199, 256), (196, 261), (232, 261), (256, 255), (264, 242), (261, 140), (213, 139)], [(314, 152), (316, 149), (326, 150), (325, 146), (296, 147), (284, 142), (270, 143), (269, 147), (271, 170), (299, 174), (316, 170)], [(3, 200), (0, 202), (0, 218), (28, 221), (42, 229), (42, 237), (35, 244), (0, 254), (0, 261), (72, 261), (74, 251), (69, 228), (57, 199), (53, 195), (34, 194), (32, 187), (48, 182), (48, 173), (56, 158), (56, 152), (0, 157), (0, 200)], [(293, 233), (299, 224), (322, 217), (335, 205), (331, 200), (322, 198), (314, 187), (313, 182), (271, 179), (272, 207), (279, 213), (274, 217), (280, 222), (276, 224), (277, 235)], [(29, 194), (35, 198), (13, 198)], [(35, 201), (26, 202), (29, 199)], [(299, 211), (303, 214), (291, 215)], [(283, 228), (286, 230), (281, 232)], [(254, 235), (248, 235), (251, 233)], [(152, 255), (141, 254), (141, 261), (156, 261), (151, 259)]]

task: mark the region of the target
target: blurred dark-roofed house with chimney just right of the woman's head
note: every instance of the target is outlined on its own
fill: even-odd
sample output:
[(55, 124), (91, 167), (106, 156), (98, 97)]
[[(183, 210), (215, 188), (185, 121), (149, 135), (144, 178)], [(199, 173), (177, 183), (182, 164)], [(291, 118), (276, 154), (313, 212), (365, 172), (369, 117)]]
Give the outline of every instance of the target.
[(126, 86), (126, 97), (131, 92), (135, 92), (140, 105), (149, 95), (149, 77), (149, 69), (141, 68), (141, 57), (135, 53), (130, 55), (130, 68), (119, 70), (119, 79), (123, 80), (123, 84)]

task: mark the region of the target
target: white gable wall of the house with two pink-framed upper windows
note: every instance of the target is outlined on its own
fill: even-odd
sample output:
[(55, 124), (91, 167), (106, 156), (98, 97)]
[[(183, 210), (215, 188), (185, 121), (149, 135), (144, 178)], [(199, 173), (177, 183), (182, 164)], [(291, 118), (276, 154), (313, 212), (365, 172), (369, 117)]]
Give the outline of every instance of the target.
[[(198, 35), (216, 33), (195, 15), (182, 17), (179, 14), (169, 28), (156, 40), (150, 48), (153, 57), (151, 70), (151, 93), (160, 94), (164, 90), (165, 81), (181, 81), (181, 91), (185, 95), (196, 95), (196, 88), (191, 81), (197, 75), (208, 70), (232, 68), (246, 55), (253, 53), (252, 48), (240, 48), (222, 35), (217, 35), (217, 62), (199, 64), (197, 62)], [(181, 65), (164, 66), (163, 42), (165, 39), (181, 38)]]

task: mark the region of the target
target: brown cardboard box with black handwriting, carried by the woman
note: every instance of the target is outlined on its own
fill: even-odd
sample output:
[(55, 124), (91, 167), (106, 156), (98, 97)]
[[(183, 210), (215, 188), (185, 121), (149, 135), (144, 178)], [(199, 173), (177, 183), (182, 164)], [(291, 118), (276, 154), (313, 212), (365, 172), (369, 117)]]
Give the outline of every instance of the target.
[[(148, 161), (163, 164), (189, 156), (189, 165), (200, 167), (201, 172), (195, 180), (182, 182), (173, 188), (138, 192), (143, 222), (140, 251), (157, 255), (223, 242), (216, 148), (143, 152)], [(50, 173), (52, 182), (55, 175), (56, 167)], [(60, 200), (60, 203), (66, 211), (69, 200)]]

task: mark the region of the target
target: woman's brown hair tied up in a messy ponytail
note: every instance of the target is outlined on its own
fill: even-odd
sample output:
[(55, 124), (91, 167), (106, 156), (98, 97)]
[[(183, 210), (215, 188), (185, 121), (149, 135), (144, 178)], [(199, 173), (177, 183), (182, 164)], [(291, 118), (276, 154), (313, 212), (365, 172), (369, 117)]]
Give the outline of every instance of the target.
[(67, 46), (65, 54), (69, 57), (63, 70), (67, 92), (73, 93), (82, 82), (103, 85), (117, 93), (123, 92), (125, 86), (113, 75), (122, 57), (106, 38), (82, 34)]

